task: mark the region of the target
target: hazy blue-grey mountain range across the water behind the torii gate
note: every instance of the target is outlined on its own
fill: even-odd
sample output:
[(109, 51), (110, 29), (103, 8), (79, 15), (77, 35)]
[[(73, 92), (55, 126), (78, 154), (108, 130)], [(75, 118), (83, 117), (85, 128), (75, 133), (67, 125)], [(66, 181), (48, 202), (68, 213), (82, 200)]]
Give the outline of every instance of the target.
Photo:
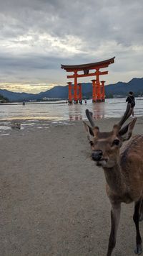
[[(143, 78), (133, 78), (128, 83), (118, 82), (105, 86), (105, 94), (109, 96), (127, 96), (129, 91), (134, 91), (135, 95), (139, 95), (143, 91)], [(0, 94), (9, 101), (29, 101), (40, 100), (46, 98), (68, 98), (68, 86), (55, 86), (48, 91), (37, 94), (32, 93), (14, 93), (12, 91), (1, 90)], [(92, 83), (82, 83), (82, 95), (89, 98), (92, 97)]]

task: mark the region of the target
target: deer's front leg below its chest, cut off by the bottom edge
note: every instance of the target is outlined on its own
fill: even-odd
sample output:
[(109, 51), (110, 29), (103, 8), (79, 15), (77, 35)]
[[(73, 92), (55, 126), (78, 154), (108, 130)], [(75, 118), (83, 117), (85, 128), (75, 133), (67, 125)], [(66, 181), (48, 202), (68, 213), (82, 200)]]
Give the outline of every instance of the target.
[(112, 204), (111, 209), (111, 232), (109, 236), (109, 244), (108, 244), (108, 252), (107, 256), (112, 255), (112, 251), (116, 245), (116, 238), (117, 238), (117, 230), (119, 227), (119, 218), (120, 218), (120, 212), (121, 212), (121, 204)]

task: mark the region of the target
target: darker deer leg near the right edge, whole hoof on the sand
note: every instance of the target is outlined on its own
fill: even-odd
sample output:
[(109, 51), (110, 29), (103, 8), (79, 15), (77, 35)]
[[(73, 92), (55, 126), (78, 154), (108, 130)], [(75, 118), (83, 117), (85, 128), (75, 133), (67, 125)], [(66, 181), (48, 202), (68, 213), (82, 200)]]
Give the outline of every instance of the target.
[(140, 206), (140, 204), (141, 204), (141, 201), (137, 201), (135, 203), (134, 216), (133, 216), (134, 223), (136, 226), (136, 248), (135, 248), (134, 252), (137, 255), (140, 255), (142, 253), (142, 238), (139, 233), (139, 206)]

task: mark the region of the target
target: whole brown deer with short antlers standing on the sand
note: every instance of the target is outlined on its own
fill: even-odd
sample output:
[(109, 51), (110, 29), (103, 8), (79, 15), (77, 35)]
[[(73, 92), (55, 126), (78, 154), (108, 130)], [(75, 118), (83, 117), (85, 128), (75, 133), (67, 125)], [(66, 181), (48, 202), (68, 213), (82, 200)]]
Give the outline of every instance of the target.
[[(104, 170), (106, 192), (111, 203), (111, 231), (107, 256), (111, 256), (117, 241), (117, 230), (121, 204), (134, 203), (133, 220), (136, 227), (136, 247), (134, 253), (142, 253), (142, 238), (139, 221), (143, 220), (143, 134), (132, 136), (137, 118), (124, 125), (132, 114), (132, 107), (127, 109), (111, 132), (100, 132), (94, 124), (93, 114), (86, 109), (89, 124), (84, 128), (91, 147), (91, 158)], [(131, 140), (130, 140), (131, 139)], [(126, 142), (129, 140), (129, 142)], [(122, 145), (124, 144), (122, 150)]]

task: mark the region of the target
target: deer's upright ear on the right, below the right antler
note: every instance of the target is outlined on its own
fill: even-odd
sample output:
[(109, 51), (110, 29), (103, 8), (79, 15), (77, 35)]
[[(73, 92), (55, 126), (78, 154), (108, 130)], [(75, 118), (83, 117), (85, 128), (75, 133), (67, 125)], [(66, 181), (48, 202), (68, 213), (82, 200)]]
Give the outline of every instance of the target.
[(129, 140), (130, 137), (132, 136), (132, 130), (134, 129), (134, 124), (137, 121), (137, 118), (134, 118), (132, 122), (127, 124), (125, 127), (120, 129), (119, 135), (122, 137), (122, 140)]

